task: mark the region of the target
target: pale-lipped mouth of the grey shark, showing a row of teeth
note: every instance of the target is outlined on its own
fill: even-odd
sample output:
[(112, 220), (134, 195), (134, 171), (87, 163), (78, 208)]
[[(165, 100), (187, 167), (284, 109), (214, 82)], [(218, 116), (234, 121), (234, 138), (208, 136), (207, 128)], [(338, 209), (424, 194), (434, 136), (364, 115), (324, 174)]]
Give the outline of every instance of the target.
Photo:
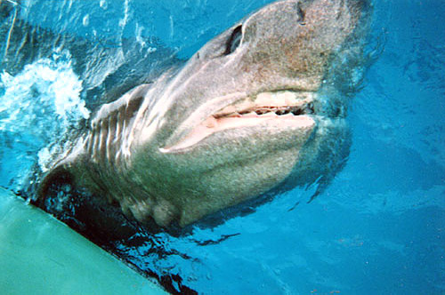
[[(253, 96), (235, 93), (210, 100), (193, 112), (159, 151), (163, 154), (187, 153), (221, 132), (230, 134), (231, 140), (238, 135), (246, 136), (246, 130), (258, 128), (268, 134), (263, 140), (282, 132), (312, 132), (316, 124), (313, 116), (315, 96), (315, 92), (276, 90)], [(239, 132), (240, 129), (245, 132)]]

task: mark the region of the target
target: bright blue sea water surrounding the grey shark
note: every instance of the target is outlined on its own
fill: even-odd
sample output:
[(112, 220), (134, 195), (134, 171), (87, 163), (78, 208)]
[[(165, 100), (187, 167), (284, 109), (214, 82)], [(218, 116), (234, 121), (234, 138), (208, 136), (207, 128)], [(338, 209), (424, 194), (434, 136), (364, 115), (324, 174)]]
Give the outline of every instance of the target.
[[(119, 58), (125, 65), (141, 56), (156, 76), (269, 2), (23, 1), (17, 20), (96, 47), (85, 52), (90, 60), (53, 48), (46, 60), (24, 59), (28, 69), (2, 63), (0, 185), (20, 187), (33, 163), (44, 164), (52, 138), (99, 104), (93, 94), (105, 92), (107, 77), (125, 79)], [(445, 2), (373, 3), (368, 51), (377, 59), (351, 102), (351, 154), (330, 186), (311, 203), (315, 187), (295, 188), (220, 226), (152, 236), (122, 249), (131, 263), (205, 294), (445, 293)], [(72, 83), (31, 76), (39, 65)], [(35, 92), (13, 92), (30, 81)], [(58, 90), (73, 102), (60, 113)]]

